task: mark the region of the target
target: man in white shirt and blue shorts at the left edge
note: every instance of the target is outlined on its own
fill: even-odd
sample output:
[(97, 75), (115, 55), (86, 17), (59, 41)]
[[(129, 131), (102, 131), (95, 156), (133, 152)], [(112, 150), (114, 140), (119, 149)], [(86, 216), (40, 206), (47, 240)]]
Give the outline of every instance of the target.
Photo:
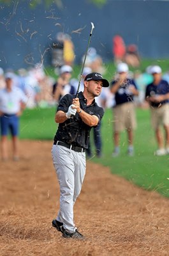
[(13, 160), (18, 160), (19, 119), (26, 107), (27, 97), (16, 86), (13, 86), (13, 75), (5, 75), (5, 88), (0, 90), (0, 124), (1, 124), (1, 156), (8, 159), (8, 130), (11, 132)]

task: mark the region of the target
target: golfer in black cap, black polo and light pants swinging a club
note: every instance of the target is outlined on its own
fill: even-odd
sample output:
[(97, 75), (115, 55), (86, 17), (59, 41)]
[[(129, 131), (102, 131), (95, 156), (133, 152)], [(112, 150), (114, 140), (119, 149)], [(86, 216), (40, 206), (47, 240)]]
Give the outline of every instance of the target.
[(60, 185), (60, 209), (53, 227), (63, 237), (84, 239), (73, 222), (73, 206), (80, 194), (85, 176), (85, 150), (89, 145), (91, 128), (98, 125), (104, 115), (94, 98), (109, 83), (101, 74), (93, 72), (84, 79), (84, 92), (62, 97), (55, 114), (59, 123), (52, 146), (52, 159)]

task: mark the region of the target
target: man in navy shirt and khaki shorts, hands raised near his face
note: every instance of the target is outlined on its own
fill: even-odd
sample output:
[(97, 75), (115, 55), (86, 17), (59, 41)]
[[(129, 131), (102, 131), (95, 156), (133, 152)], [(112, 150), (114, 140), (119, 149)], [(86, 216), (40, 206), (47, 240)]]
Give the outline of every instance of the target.
[(138, 95), (135, 81), (128, 77), (128, 65), (117, 65), (117, 78), (112, 81), (110, 91), (115, 95), (114, 106), (114, 152), (120, 154), (120, 132), (126, 129), (128, 133), (128, 156), (133, 156), (133, 130), (136, 128), (135, 104), (133, 97)]

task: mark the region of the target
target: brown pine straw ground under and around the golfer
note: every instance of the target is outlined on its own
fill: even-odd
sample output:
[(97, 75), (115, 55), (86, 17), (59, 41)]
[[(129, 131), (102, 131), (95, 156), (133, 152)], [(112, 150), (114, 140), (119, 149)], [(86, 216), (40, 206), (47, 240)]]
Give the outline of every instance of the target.
[(0, 255), (169, 255), (169, 200), (87, 162), (75, 223), (84, 241), (51, 227), (59, 186), (51, 141), (21, 141), (18, 162), (1, 162)]

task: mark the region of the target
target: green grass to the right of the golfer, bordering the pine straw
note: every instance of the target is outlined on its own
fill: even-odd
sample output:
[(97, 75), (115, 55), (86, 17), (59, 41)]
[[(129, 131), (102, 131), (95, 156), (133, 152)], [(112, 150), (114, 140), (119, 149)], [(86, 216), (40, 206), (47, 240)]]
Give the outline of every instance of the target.
[(138, 127), (135, 131), (135, 156), (127, 156), (127, 134), (121, 133), (121, 156), (112, 157), (112, 110), (108, 109), (102, 125), (103, 157), (94, 162), (110, 167), (138, 186), (156, 190), (169, 197), (169, 156), (154, 156), (156, 141), (151, 129), (149, 109), (137, 109)]

